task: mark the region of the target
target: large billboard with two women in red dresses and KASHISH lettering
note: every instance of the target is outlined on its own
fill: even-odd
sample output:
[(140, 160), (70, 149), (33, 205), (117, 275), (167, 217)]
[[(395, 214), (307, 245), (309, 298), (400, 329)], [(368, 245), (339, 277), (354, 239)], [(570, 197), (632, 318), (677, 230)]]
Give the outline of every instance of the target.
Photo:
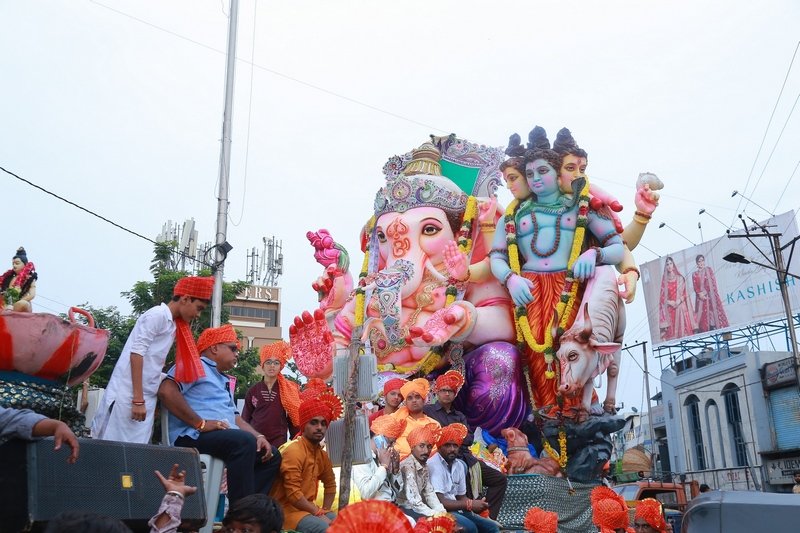
[[(798, 234), (794, 212), (761, 224), (770, 232), (782, 233), (782, 244)], [(744, 235), (744, 231), (731, 235)], [(783, 254), (787, 270), (800, 275), (800, 246), (797, 254), (790, 251)], [(769, 238), (726, 235), (640, 266), (653, 346), (786, 316), (777, 273), (755, 263), (725, 261), (723, 257), (731, 253), (765, 265), (774, 263)], [(800, 280), (789, 277), (786, 287), (795, 310), (800, 306)]]

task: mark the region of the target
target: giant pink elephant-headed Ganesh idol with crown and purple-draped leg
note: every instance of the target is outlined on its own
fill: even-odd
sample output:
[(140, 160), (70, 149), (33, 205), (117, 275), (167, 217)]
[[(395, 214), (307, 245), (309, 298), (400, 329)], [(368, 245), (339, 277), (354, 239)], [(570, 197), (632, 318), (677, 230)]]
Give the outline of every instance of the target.
[[(525, 400), (511, 300), (487, 257), (497, 208), (442, 175), (453, 160), (472, 165), (485, 197), (499, 183), (502, 151), (453, 137), (390, 160), (362, 235), (358, 286), (343, 297), (347, 274), (331, 269), (332, 259), (323, 263), (314, 283), (323, 305), (295, 319), (293, 355), (305, 375), (326, 379), (336, 349), (360, 331), (387, 379), (455, 366), (468, 381), (460, 400), (470, 423), (498, 432), (524, 419)], [(326, 236), (309, 239), (321, 244)]]

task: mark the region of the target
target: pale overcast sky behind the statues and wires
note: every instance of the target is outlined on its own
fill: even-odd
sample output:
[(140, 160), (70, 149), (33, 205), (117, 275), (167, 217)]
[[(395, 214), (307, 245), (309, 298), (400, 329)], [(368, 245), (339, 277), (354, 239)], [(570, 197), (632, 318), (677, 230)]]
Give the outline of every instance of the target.
[[(227, 11), (227, 0), (0, 0), (0, 166), (150, 238), (194, 217), (212, 240)], [(689, 245), (670, 228), (697, 243), (702, 222), (705, 240), (720, 236), (698, 210), (731, 221), (744, 207), (734, 189), (797, 210), (799, 21), (792, 0), (243, 0), (226, 279), (244, 278), (262, 237), (282, 239), (288, 335), (315, 306), (305, 232), (329, 229), (360, 264), (383, 164), (430, 133), (505, 146), (537, 124), (551, 139), (567, 126), (625, 221), (637, 175), (655, 172), (666, 188), (640, 263)], [(0, 257), (27, 248), (36, 310), (128, 311), (119, 293), (148, 279), (152, 245), (0, 179)], [(626, 340), (650, 340), (643, 297), (628, 307)], [(627, 355), (622, 373), (618, 396), (640, 406)]]

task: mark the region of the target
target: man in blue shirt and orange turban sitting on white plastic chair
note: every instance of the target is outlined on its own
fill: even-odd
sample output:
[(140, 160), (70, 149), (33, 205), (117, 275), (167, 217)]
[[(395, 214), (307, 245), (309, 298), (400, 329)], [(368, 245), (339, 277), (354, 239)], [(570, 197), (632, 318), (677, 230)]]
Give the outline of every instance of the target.
[(230, 379), (223, 372), (236, 364), (239, 346), (230, 324), (205, 330), (197, 339), (205, 376), (178, 383), (173, 367), (158, 389), (158, 399), (169, 410), (170, 442), (222, 459), (231, 503), (268, 493), (281, 463), (277, 448), (236, 412)]

